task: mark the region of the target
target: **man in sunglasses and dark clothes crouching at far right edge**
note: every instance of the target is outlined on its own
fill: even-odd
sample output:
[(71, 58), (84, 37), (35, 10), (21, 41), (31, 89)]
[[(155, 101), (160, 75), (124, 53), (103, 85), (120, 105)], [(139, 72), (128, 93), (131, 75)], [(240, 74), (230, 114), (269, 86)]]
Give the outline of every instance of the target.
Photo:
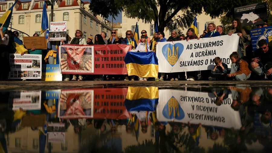
[(251, 69), (263, 79), (268, 76), (271, 79), (272, 74), (272, 49), (268, 46), (266, 40), (258, 41), (259, 49), (255, 50), (254, 58), (251, 59)]

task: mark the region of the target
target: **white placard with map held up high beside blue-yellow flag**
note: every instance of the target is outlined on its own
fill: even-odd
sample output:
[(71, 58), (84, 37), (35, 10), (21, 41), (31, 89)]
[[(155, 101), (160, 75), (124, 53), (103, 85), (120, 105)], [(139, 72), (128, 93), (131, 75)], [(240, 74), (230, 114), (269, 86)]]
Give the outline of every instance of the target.
[(49, 37), (50, 41), (66, 40), (67, 22), (50, 22)]

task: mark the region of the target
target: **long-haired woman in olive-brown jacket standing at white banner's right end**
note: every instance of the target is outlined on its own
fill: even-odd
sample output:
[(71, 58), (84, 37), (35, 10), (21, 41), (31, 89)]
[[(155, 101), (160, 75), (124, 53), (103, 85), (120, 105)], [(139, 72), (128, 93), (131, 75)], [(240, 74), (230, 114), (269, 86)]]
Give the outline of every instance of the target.
[(250, 41), (251, 38), (245, 32), (245, 30), (242, 29), (241, 22), (239, 19), (234, 19), (232, 21), (232, 28), (233, 28), (232, 30), (228, 31), (228, 35), (231, 36), (232, 34), (237, 33), (237, 35), (240, 37), (237, 53), (239, 54), (240, 57), (243, 57), (246, 55), (244, 43), (246, 41)]

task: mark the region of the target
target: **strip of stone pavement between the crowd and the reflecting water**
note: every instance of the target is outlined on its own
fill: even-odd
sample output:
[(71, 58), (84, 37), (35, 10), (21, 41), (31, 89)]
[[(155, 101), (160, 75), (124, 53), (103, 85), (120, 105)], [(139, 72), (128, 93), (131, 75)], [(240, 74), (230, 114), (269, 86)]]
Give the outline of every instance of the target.
[(71, 88), (113, 88), (156, 86), (159, 88), (227, 87), (246, 84), (251, 87), (272, 87), (272, 81), (0, 81), (0, 91), (53, 90)]

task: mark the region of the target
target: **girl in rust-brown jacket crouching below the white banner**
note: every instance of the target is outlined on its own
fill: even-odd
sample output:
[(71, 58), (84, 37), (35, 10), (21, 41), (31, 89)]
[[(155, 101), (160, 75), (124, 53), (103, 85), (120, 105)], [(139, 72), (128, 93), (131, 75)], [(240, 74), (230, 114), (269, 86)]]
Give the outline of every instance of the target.
[(235, 77), (235, 80), (244, 81), (250, 77), (251, 71), (248, 69), (248, 62), (241, 59), (237, 52), (233, 52), (229, 58), (232, 61), (232, 68), (228, 77)]

